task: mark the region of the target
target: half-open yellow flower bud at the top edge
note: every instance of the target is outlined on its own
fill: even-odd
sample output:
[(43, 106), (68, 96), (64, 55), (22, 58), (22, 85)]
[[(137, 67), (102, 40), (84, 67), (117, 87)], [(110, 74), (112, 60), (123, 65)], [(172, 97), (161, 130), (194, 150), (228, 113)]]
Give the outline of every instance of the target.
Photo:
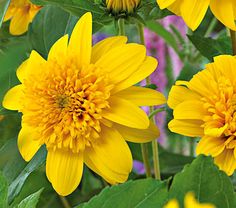
[(140, 0), (106, 0), (107, 8), (115, 13), (132, 13), (139, 3)]

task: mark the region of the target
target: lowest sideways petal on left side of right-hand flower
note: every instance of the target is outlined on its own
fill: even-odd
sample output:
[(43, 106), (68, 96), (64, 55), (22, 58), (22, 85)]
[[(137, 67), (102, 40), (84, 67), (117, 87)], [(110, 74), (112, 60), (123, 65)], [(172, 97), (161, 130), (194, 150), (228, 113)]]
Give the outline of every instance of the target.
[(176, 120), (169, 122), (168, 127), (172, 132), (190, 137), (201, 137), (204, 135), (203, 124), (200, 120)]

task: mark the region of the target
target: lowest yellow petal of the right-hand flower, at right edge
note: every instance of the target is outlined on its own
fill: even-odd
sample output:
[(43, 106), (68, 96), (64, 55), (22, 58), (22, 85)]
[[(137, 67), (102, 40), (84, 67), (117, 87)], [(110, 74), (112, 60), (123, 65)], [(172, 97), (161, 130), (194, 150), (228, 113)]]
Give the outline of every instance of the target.
[(236, 160), (233, 149), (225, 149), (220, 155), (214, 158), (220, 170), (226, 172), (227, 175), (232, 175), (236, 169)]

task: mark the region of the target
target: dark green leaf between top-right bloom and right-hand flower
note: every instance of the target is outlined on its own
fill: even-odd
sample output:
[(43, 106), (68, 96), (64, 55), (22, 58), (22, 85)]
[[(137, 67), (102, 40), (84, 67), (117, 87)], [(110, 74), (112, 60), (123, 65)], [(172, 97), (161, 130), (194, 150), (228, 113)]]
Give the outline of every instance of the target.
[(205, 56), (212, 61), (213, 57), (221, 54), (232, 54), (232, 46), (229, 37), (218, 39), (204, 38), (199, 35), (188, 35), (189, 40)]

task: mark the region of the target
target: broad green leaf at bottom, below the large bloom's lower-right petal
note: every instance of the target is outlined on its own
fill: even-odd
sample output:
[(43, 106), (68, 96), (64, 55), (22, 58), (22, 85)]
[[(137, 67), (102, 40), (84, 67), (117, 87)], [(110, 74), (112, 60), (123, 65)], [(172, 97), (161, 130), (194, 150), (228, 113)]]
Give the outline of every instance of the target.
[(105, 188), (98, 196), (77, 208), (157, 208), (167, 200), (167, 182), (154, 179), (128, 181)]

